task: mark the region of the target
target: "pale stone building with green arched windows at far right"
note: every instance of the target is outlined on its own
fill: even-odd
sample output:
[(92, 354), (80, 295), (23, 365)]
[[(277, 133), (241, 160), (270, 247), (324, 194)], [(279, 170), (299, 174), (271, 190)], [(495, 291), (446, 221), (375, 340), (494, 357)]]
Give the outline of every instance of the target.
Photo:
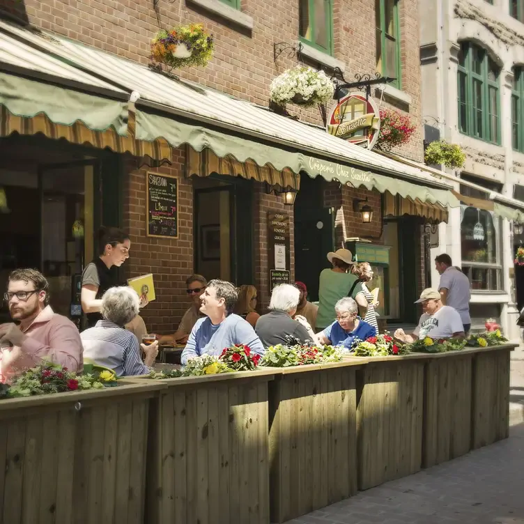
[(518, 212), (501, 212), (500, 204), (524, 201), (523, 7), (520, 0), (419, 2), (426, 141), (440, 136), (467, 155), (456, 172), (461, 207), (440, 225), (433, 254), (447, 252), (470, 278), (472, 328), (493, 317), (512, 338), (516, 302), (524, 305), (514, 265), (524, 238)]

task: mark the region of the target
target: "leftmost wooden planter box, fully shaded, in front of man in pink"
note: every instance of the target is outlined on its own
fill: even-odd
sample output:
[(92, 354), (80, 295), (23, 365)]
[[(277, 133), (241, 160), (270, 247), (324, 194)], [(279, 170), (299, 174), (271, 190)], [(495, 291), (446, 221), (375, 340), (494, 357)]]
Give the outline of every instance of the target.
[(0, 523), (142, 524), (148, 407), (161, 387), (0, 400)]

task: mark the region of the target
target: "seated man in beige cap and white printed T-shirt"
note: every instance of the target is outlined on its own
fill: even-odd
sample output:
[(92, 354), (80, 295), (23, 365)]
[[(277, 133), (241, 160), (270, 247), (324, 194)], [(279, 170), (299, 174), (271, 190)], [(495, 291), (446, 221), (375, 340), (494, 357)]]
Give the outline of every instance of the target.
[(422, 305), (422, 316), (413, 331), (407, 334), (402, 329), (394, 333), (394, 337), (404, 344), (410, 344), (416, 339), (463, 339), (465, 337), (459, 311), (451, 306), (442, 305), (440, 291), (438, 289), (426, 288), (422, 291), (419, 300), (415, 304)]

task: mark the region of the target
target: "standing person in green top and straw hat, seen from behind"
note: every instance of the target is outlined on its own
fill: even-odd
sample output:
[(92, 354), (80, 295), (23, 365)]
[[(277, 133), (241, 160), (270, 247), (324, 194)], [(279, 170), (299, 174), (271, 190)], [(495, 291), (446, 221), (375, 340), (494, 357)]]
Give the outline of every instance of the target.
[(321, 271), (318, 284), (318, 314), (316, 317), (316, 330), (321, 331), (331, 325), (337, 314), (334, 305), (347, 296), (357, 302), (360, 315), (365, 316), (367, 300), (362, 290), (362, 284), (349, 270), (353, 265), (353, 255), (348, 249), (337, 249), (337, 252), (327, 254), (327, 260), (332, 263), (332, 268)]

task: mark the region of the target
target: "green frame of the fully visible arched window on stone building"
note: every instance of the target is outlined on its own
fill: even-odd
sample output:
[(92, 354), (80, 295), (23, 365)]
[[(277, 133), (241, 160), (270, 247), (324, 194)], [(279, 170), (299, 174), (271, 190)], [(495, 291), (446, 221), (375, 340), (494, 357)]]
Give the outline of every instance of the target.
[[(484, 54), (480, 62), (480, 72), (475, 72), (474, 57), (475, 52), (482, 52)], [(467, 135), (468, 137), (475, 138), (489, 144), (495, 144), (500, 146), (500, 68), (497, 66), (497, 77), (495, 80), (488, 78), (489, 61), (490, 57), (484, 47), (480, 47), (475, 43), (464, 42), (461, 43), (461, 52), (464, 56), (464, 65), (461, 65), (460, 61), (457, 67), (457, 110), (458, 110), (458, 128), (459, 132)], [(491, 61), (493, 61), (491, 59)], [(494, 63), (494, 62), (493, 62)], [(461, 77), (464, 78), (465, 82), (465, 100), (461, 98)], [(474, 100), (474, 86), (479, 83), (481, 86), (481, 107), (475, 107)], [(495, 106), (496, 113), (493, 113), (490, 104), (490, 93), (491, 90), (495, 89)], [(461, 118), (461, 108), (465, 107), (465, 122)], [(481, 112), (481, 127), (478, 128), (477, 112)], [(491, 117), (495, 116), (497, 126), (495, 132), (497, 134), (496, 139), (493, 139), (491, 129)]]

